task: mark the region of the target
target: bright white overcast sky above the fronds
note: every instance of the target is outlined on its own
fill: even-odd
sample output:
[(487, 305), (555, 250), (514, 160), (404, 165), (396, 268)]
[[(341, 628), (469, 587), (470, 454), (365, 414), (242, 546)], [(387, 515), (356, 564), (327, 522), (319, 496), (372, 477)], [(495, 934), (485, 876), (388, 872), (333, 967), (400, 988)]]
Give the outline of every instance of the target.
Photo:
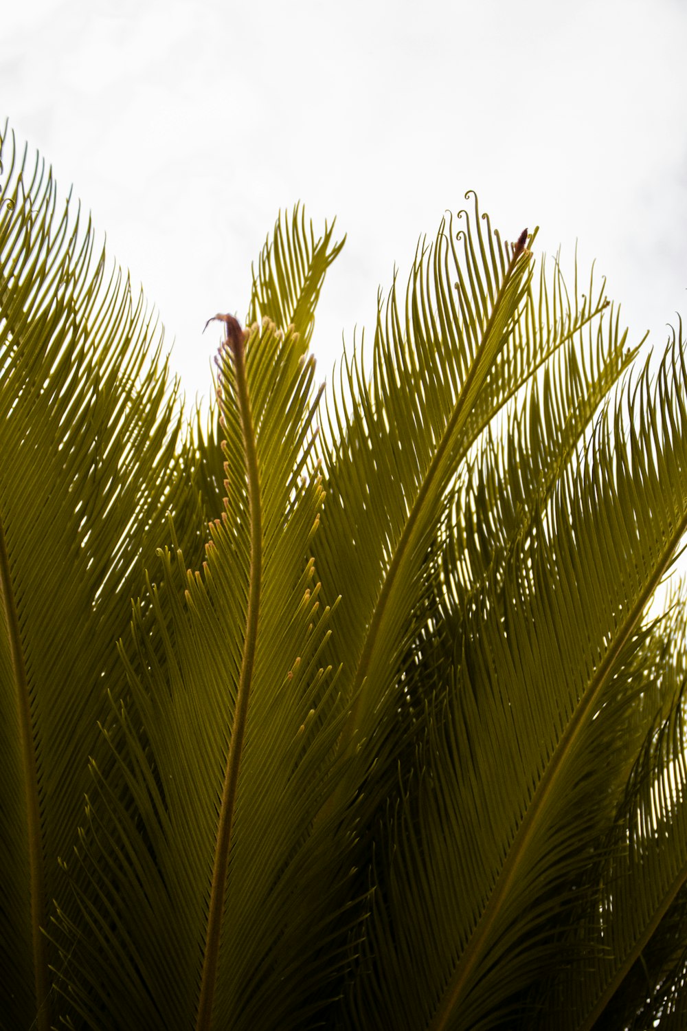
[(157, 305), (187, 400), (279, 208), (337, 217), (313, 346), (475, 189), (508, 239), (593, 258), (632, 340), (687, 315), (684, 0), (42, 0), (5, 5), (0, 117)]

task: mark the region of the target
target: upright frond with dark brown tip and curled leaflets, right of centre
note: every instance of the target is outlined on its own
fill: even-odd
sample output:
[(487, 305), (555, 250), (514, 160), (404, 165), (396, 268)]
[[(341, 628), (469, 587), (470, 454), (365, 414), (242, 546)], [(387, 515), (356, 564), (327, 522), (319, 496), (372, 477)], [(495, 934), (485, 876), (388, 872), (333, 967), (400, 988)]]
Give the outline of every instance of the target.
[[(341, 396), (328, 399), (333, 441), (322, 442), (328, 529), (316, 555), (324, 581), (336, 584), (342, 595), (352, 701), (344, 749), (371, 732), (390, 688), (404, 644), (401, 613), (413, 607), (420, 560), (456, 455), (466, 446), (466, 428), (489, 374), (509, 350), (515, 314), (526, 296), (525, 237), (509, 254), (496, 236), (497, 247), (490, 239), (490, 257), (482, 247), (478, 258), (467, 234), (467, 274), (480, 290), (472, 296), (459, 292), (458, 311), (449, 282), (450, 271), (460, 274), (460, 267), (451, 229), (449, 243), (442, 226), (433, 264), (423, 254), (416, 259), (405, 334), (393, 291), (386, 331), (381, 311), (377, 324), (372, 383), (354, 356), (342, 368)], [(450, 256), (455, 263), (449, 271)], [(428, 308), (430, 290), (438, 321)]]

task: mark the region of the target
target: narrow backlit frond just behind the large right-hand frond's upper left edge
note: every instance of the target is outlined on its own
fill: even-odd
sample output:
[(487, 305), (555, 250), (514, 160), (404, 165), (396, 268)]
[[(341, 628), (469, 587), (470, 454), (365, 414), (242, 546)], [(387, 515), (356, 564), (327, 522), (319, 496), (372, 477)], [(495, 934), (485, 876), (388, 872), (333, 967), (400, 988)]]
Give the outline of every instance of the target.
[[(593, 284), (590, 288), (593, 296)], [(581, 326), (510, 403), (501, 426), (487, 426), (461, 463), (453, 500), (427, 553), (435, 597), (417, 612), (415, 668), (403, 679), (404, 709), (416, 719), (432, 697), (426, 656), (436, 664), (437, 635), (456, 632), (469, 596), (485, 577), (499, 581), (516, 537), (527, 546), (537, 511), (577, 460), (596, 408), (637, 355), (638, 348), (626, 347), (626, 337), (612, 308), (608, 320), (602, 310), (598, 320)]]

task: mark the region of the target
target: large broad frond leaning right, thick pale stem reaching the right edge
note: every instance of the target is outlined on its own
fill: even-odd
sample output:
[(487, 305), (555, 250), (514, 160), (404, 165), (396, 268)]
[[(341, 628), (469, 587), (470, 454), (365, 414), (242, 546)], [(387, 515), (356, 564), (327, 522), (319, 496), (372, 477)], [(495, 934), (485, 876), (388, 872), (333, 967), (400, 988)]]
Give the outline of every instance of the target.
[[(444, 718), (431, 723), (422, 772), (394, 818), (368, 946), (374, 973), (355, 984), (353, 1025), (515, 1026), (523, 993), (561, 961), (554, 929), (580, 904), (600, 847), (595, 803), (614, 753), (624, 757), (620, 717), (640, 691), (623, 687), (623, 670), (687, 526), (685, 367), (675, 345), (653, 395), (645, 373), (636, 400), (628, 429), (619, 417), (613, 433), (599, 424), (587, 460), (540, 518), (531, 554), (514, 548), (504, 590), (473, 599)], [(648, 863), (618, 927), (615, 962), (625, 969), (687, 876), (676, 756), (677, 745), (674, 790), (661, 795), (658, 775), (640, 781), (642, 810), (651, 798), (669, 846), (652, 849), (648, 834), (638, 844)], [(626, 839), (610, 842), (614, 864)], [(587, 892), (593, 924), (597, 885)], [(599, 919), (613, 917), (607, 908)], [(592, 991), (585, 985), (584, 998)]]

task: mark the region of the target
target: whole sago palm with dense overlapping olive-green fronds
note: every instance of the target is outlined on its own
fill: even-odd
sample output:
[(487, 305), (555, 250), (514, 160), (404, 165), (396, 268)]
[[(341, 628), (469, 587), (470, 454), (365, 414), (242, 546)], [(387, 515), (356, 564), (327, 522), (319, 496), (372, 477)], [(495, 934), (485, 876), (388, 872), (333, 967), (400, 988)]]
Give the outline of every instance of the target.
[(681, 335), (473, 197), (317, 389), (297, 206), (186, 424), (5, 151), (0, 1027), (684, 1027)]

